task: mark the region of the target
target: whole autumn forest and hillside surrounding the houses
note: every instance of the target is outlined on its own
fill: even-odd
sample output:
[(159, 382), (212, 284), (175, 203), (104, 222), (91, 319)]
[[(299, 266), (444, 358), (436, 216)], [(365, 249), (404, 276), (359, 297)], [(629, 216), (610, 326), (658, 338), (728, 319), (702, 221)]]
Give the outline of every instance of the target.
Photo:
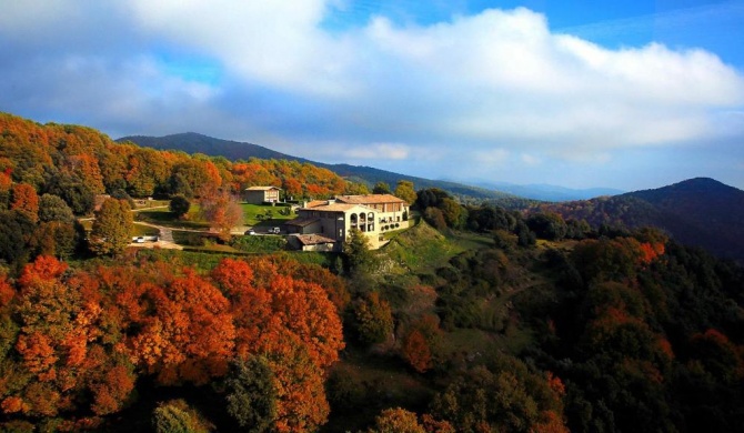
[[(391, 192), (414, 223), (378, 251), (129, 245), (150, 198), (254, 242), (229, 211), (253, 185)], [(743, 308), (738, 263), (657, 228), (0, 113), (1, 431), (732, 432)]]

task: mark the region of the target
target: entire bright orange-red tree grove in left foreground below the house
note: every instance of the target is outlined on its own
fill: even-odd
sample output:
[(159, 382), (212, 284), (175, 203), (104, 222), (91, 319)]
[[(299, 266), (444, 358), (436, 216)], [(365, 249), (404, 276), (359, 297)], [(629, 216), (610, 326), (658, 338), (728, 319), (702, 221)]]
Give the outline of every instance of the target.
[(312, 431), (329, 415), (325, 369), (343, 348), (336, 305), (271, 260), (224, 260), (200, 275), (159, 261), (74, 271), (40, 256), (16, 284), (0, 281), (0, 312), (17, 318), (0, 321), (6, 414), (107, 415), (127, 404), (138, 374), (199, 385), (259, 355), (277, 390), (274, 430)]

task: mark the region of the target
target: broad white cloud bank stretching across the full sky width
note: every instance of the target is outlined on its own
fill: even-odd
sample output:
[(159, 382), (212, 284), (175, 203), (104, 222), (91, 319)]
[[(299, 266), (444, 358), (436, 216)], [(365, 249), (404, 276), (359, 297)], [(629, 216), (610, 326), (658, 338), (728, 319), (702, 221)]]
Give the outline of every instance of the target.
[[(416, 158), (450, 175), (744, 135), (744, 77), (713, 53), (606, 49), (524, 8), (330, 32), (322, 22), (341, 0), (3, 7), (0, 54), (12, 63), (0, 109), (46, 103), (124, 133), (271, 138), (308, 143), (305, 158)], [(180, 68), (208, 59), (221, 77), (173, 73), (163, 52), (183, 57)]]

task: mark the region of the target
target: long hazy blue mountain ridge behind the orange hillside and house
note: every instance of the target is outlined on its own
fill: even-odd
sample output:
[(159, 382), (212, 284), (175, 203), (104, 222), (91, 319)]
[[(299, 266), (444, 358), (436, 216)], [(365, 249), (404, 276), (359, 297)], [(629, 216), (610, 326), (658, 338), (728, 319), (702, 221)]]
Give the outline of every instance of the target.
[[(350, 165), (350, 164), (326, 164), (323, 162), (311, 161), (304, 158), (293, 157), (277, 152), (258, 144), (238, 142), (231, 140), (221, 140), (195, 132), (185, 132), (165, 137), (145, 137), (130, 135), (122, 137), (118, 142), (131, 141), (142, 147), (160, 150), (179, 150), (187, 153), (203, 153), (210, 157), (224, 157), (229, 160), (249, 160), (277, 159), (299, 162), (309, 162), (316, 167), (329, 169), (339, 175), (349, 179), (352, 182), (364, 182), (374, 185), (378, 182), (385, 182), (391, 188), (395, 188), (399, 180), (409, 180), (413, 182), (416, 189), (440, 188), (461, 199), (491, 199), (496, 202), (524, 204), (530, 200), (541, 201), (567, 201), (581, 200), (593, 197), (616, 194), (622, 191), (609, 189), (572, 190), (554, 185), (515, 185), (511, 183), (482, 183), (477, 185), (463, 184), (444, 180), (431, 180), (406, 174), (394, 173), (385, 170), (379, 170), (371, 167)], [(529, 199), (529, 200), (523, 200)]]

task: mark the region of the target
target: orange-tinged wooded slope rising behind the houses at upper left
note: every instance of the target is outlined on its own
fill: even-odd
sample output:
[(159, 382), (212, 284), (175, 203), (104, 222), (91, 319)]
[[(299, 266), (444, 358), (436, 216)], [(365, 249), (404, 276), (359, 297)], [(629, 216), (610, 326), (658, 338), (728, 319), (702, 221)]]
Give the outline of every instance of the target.
[(122, 192), (132, 198), (199, 195), (199, 190), (239, 193), (251, 185), (277, 185), (293, 195), (330, 197), (348, 182), (309, 163), (155, 151), (117, 143), (90, 128), (47, 124), (0, 113), (0, 170), (12, 182), (56, 193), (77, 214), (90, 212), (92, 195)]

